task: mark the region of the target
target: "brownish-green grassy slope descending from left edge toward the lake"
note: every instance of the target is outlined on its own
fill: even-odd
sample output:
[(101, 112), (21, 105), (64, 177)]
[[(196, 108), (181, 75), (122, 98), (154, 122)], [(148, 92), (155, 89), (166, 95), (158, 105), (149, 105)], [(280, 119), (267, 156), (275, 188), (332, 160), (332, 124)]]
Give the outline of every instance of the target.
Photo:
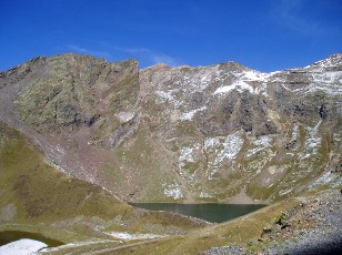
[(169, 213), (135, 210), (99, 186), (67, 176), (1, 122), (0, 176), (0, 231), (36, 232), (70, 243), (109, 238), (103, 232), (110, 231), (184, 232), (203, 226)]

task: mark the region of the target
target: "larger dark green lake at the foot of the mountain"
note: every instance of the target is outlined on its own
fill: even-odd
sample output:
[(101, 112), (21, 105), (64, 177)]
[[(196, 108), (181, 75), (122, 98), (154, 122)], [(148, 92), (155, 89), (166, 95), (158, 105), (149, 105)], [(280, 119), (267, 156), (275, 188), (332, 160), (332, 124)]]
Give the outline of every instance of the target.
[(208, 222), (227, 222), (249, 214), (265, 205), (261, 204), (172, 204), (172, 203), (130, 203), (130, 205), (152, 211), (167, 211)]

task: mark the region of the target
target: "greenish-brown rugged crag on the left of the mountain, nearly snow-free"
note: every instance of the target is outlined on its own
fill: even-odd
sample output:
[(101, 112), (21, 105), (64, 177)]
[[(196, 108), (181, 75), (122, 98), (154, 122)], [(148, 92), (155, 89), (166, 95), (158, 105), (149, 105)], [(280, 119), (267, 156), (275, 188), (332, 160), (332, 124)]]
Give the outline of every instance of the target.
[(17, 99), (21, 119), (40, 133), (94, 126), (92, 139), (114, 146), (112, 132), (134, 116), (138, 63), (73, 54), (38, 61)]

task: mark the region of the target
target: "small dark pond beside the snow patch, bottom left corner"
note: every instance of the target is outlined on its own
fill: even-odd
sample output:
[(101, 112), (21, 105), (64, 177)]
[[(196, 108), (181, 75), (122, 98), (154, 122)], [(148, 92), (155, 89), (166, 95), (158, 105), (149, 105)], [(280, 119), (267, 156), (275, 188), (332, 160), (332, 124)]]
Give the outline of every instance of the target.
[(21, 232), (21, 231), (3, 231), (0, 232), (0, 246), (22, 238), (40, 241), (46, 243), (50, 247), (56, 247), (63, 244), (60, 241), (48, 238), (38, 233)]

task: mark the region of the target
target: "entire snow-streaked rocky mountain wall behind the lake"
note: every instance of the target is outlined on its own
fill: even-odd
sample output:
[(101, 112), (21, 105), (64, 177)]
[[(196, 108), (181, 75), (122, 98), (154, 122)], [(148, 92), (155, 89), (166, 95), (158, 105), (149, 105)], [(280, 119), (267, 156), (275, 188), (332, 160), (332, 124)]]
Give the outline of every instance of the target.
[(341, 82), (342, 54), (273, 73), (63, 54), (0, 73), (0, 120), (123, 200), (270, 202), (341, 187)]

